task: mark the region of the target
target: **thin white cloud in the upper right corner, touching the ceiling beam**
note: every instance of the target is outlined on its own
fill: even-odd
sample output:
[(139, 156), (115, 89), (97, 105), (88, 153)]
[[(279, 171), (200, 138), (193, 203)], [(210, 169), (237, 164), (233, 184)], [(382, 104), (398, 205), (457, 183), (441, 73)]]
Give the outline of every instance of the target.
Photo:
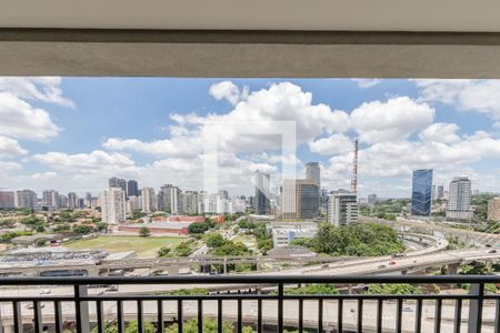
[(500, 120), (500, 80), (414, 80), (422, 101), (453, 104)]

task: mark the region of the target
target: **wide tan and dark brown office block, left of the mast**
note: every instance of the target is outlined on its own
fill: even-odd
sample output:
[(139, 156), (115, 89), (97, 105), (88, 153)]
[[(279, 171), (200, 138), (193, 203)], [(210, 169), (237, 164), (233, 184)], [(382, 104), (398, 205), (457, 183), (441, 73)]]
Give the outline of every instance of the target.
[(319, 215), (319, 186), (313, 180), (284, 180), (281, 200), (283, 219), (313, 219)]

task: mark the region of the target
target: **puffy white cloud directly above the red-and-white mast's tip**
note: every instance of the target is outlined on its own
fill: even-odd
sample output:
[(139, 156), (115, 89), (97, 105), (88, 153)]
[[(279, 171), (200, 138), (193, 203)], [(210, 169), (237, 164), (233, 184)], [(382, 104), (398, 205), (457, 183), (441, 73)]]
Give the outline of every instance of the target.
[(433, 122), (434, 109), (408, 97), (363, 103), (351, 112), (352, 127), (364, 142), (408, 138)]

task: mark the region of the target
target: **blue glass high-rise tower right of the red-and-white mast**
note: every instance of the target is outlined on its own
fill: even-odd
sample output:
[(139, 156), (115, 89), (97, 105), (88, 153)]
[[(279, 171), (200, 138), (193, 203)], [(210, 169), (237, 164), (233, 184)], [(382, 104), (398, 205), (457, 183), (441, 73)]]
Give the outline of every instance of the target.
[(429, 216), (431, 212), (432, 169), (413, 171), (411, 214)]

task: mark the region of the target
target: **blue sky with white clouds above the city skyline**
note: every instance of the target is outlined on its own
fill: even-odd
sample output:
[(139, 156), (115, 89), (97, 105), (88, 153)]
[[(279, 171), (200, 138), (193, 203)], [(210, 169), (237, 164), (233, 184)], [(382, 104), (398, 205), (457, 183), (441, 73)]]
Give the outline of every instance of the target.
[[(282, 174), (280, 121), (297, 128), (284, 158), (296, 175)], [(361, 195), (409, 196), (420, 168), (436, 184), (468, 175), (500, 191), (499, 132), (493, 80), (0, 78), (0, 188), (98, 192), (117, 175), (202, 190), (218, 138), (232, 194), (252, 192), (257, 169), (278, 186), (309, 161), (336, 190), (349, 188), (359, 137)]]

